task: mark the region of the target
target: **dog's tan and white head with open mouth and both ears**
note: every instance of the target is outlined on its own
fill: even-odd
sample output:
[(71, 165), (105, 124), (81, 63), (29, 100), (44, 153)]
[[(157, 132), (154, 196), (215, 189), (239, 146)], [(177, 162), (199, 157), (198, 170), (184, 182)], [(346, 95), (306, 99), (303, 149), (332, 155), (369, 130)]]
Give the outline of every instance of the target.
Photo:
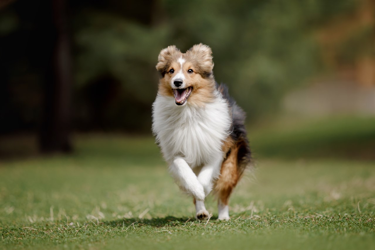
[(194, 45), (184, 54), (171, 45), (160, 52), (158, 61), (160, 94), (173, 96), (177, 105), (204, 105), (214, 98), (212, 52), (207, 45)]

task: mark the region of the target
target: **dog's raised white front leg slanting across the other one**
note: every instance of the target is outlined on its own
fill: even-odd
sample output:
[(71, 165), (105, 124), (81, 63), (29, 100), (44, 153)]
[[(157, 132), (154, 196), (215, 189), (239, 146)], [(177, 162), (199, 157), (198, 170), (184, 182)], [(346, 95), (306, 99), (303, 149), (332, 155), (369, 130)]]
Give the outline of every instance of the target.
[(182, 158), (175, 158), (169, 166), (172, 176), (196, 201), (204, 201), (204, 189), (193, 170)]

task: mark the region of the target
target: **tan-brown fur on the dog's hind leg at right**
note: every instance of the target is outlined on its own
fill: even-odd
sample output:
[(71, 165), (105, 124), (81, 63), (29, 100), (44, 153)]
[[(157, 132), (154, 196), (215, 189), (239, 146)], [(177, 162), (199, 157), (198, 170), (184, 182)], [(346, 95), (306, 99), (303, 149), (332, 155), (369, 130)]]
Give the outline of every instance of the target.
[(237, 171), (238, 150), (238, 145), (234, 145), (231, 148), (231, 152), (221, 165), (220, 177), (214, 187), (214, 190), (219, 196), (219, 199), (225, 205), (228, 204), (229, 196), (231, 195), (232, 190), (234, 189), (234, 187), (236, 187), (236, 184), (240, 179), (240, 173)]

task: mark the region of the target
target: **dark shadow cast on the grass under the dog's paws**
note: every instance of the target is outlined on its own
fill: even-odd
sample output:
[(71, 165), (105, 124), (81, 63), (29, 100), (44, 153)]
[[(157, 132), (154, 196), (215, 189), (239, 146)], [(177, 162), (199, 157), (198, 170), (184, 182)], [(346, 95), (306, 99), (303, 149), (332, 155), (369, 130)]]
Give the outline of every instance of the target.
[[(217, 216), (212, 216), (210, 220), (215, 221)], [(196, 221), (195, 218), (192, 217), (182, 217), (177, 218), (174, 216), (166, 216), (163, 218), (152, 218), (152, 219), (139, 219), (139, 218), (130, 218), (130, 219), (120, 219), (120, 220), (111, 220), (108, 222), (102, 222), (104, 225), (107, 226), (131, 226), (134, 223), (134, 226), (152, 226), (156, 228), (161, 228), (164, 226), (177, 226), (182, 225), (185, 223), (192, 223)], [(196, 221), (198, 223), (198, 221)]]

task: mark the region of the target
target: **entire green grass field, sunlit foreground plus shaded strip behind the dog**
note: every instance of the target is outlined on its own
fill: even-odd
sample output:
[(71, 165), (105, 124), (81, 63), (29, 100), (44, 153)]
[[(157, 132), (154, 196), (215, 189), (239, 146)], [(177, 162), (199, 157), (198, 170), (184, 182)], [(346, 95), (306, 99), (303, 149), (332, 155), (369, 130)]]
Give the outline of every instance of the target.
[(194, 220), (151, 137), (78, 135), (69, 156), (2, 160), (0, 249), (375, 249), (374, 119), (249, 130), (256, 168), (228, 222), (213, 198)]

